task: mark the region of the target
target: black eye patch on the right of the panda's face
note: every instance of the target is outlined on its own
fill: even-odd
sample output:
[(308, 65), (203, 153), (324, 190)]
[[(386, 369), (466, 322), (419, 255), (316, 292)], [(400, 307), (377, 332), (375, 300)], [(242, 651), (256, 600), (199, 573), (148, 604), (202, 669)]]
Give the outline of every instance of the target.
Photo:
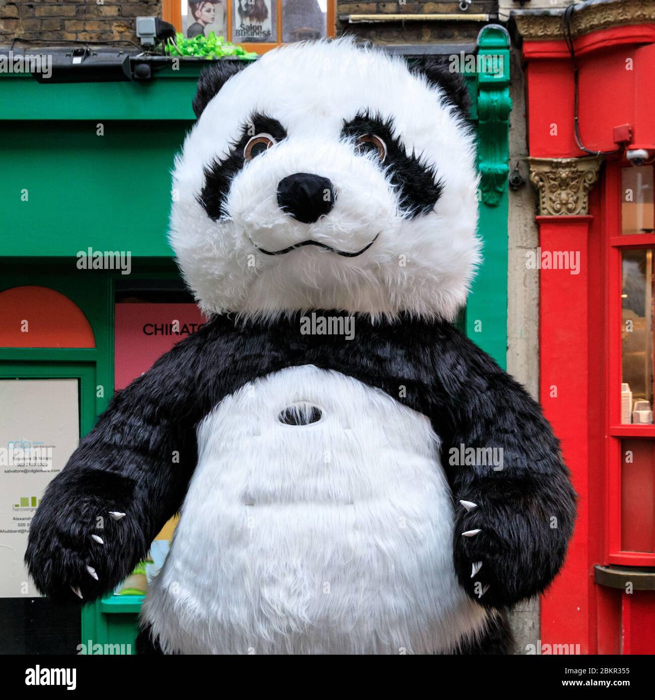
[[(392, 183), (399, 188), (400, 208), (416, 218), (429, 214), (441, 197), (443, 183), (436, 178), (434, 167), (412, 151), (406, 153), (399, 138), (394, 139), (394, 120), (382, 118), (380, 113), (361, 111), (343, 123), (342, 138), (376, 136), (384, 141), (387, 154), (380, 167), (388, 168)], [(364, 144), (365, 145), (365, 144)], [(368, 149), (362, 149), (366, 153)]]

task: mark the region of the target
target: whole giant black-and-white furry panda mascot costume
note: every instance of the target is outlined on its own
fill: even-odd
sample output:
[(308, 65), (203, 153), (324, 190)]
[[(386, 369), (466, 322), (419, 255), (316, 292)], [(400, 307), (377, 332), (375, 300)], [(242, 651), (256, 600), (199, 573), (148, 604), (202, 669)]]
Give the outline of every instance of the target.
[(348, 39), (202, 73), (170, 239), (210, 321), (48, 486), (43, 593), (112, 591), (180, 512), (140, 652), (511, 650), (575, 497), (539, 407), (452, 325), (481, 259), (466, 94)]

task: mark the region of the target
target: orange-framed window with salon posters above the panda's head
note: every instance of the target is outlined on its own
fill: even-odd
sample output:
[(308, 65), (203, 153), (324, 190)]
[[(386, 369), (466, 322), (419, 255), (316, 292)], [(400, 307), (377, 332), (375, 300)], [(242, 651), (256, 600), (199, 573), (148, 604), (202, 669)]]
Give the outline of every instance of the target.
[(336, 0), (164, 0), (164, 19), (186, 37), (224, 36), (263, 53), (335, 34)]

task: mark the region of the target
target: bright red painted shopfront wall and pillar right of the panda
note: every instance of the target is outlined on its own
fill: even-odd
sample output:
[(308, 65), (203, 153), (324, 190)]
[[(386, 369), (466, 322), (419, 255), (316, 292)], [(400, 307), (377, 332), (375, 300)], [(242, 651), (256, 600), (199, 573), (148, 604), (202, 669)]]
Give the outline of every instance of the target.
[[(633, 147), (655, 151), (655, 25), (612, 27), (574, 43), (584, 146), (613, 150), (614, 127), (630, 124)], [(565, 43), (526, 41), (523, 58), (530, 155), (588, 155), (574, 138), (574, 71)], [(608, 533), (616, 528), (616, 483), (608, 470), (610, 446), (616, 450), (617, 444), (608, 437), (609, 377), (615, 379), (608, 363), (616, 355), (610, 352), (609, 280), (620, 272), (612, 267), (618, 258), (610, 255), (610, 238), (620, 233), (623, 157), (607, 158), (590, 194), (589, 216), (537, 217), (542, 251), (581, 255), (578, 275), (542, 269), (539, 276), (541, 400), (579, 493), (567, 561), (542, 600), (541, 638), (553, 645), (579, 644), (588, 654), (655, 653), (655, 593), (625, 594), (594, 582), (594, 566), (609, 563)], [(612, 285), (616, 293), (616, 280)]]

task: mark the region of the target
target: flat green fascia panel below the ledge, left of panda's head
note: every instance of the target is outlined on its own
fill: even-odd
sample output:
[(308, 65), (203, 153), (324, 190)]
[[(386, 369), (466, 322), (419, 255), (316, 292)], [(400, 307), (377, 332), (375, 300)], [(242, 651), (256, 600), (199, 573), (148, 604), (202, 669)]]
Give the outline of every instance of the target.
[(0, 194), (2, 255), (75, 258), (89, 246), (172, 255), (170, 172), (190, 123), (102, 120), (103, 136), (97, 124), (2, 124), (0, 172), (11, 174)]

